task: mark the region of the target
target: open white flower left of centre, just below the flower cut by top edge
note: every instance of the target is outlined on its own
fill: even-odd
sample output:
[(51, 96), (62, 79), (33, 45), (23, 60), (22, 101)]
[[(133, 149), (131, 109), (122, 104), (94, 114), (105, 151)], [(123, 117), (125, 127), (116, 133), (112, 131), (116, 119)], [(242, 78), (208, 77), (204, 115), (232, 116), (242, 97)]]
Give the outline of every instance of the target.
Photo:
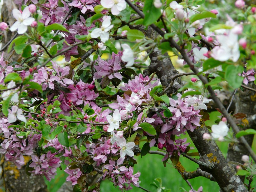
[(113, 28), (114, 25), (111, 25), (111, 17), (104, 16), (101, 28), (96, 28), (92, 31), (91, 37), (97, 38), (100, 37), (101, 41), (105, 43), (109, 39), (109, 33), (107, 33), (110, 29)]

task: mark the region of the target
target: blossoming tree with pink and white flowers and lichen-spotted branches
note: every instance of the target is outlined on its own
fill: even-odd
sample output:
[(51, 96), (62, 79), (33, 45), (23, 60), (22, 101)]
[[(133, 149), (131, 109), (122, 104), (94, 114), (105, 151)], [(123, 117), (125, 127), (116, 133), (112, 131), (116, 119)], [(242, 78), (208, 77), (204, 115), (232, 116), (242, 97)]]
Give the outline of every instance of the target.
[[(13, 32), (0, 58), (3, 162), (25, 168), (28, 180), (50, 181), (66, 167), (74, 192), (99, 191), (106, 179), (121, 190), (148, 191), (133, 166), (139, 155), (158, 154), (192, 192), (188, 180), (199, 176), (217, 182), (223, 192), (253, 190), (255, 5), (243, 0), (14, 3), (13, 24), (0, 23), (3, 35)], [(222, 102), (224, 91), (233, 92), (228, 103)], [(221, 116), (209, 127), (204, 122), (211, 111)], [(227, 159), (216, 141), (230, 143)], [(187, 172), (180, 157), (198, 169)], [(8, 183), (5, 187), (10, 191)]]

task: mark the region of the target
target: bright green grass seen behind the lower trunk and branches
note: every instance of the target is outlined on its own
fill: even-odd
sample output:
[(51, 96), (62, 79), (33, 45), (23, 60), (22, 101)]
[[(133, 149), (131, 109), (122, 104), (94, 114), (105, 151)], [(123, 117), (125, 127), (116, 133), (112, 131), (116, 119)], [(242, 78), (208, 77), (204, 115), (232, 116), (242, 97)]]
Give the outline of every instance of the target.
[[(211, 121), (206, 121), (205, 122), (206, 125), (211, 126), (212, 124), (214, 124), (214, 121), (218, 119), (218, 116), (220, 116), (219, 112), (212, 112), (210, 114)], [(184, 135), (184, 137), (187, 137), (187, 135)], [(190, 138), (189, 137), (187, 138), (188, 138), (187, 142), (191, 143), (190, 146), (195, 148)], [(226, 157), (227, 150), (228, 150), (228, 143), (225, 143), (225, 142), (217, 142), (217, 143), (223, 155)], [(255, 140), (253, 143), (254, 143), (253, 149), (255, 151)], [(141, 143), (140, 147), (142, 146), (143, 146), (143, 143)], [(157, 148), (151, 148), (151, 150), (157, 150)], [(197, 152), (197, 150), (193, 149), (190, 152)], [(166, 164), (166, 167), (164, 167), (161, 161), (163, 156), (160, 156), (160, 155), (147, 154), (142, 158), (140, 156), (135, 156), (134, 158), (137, 160), (137, 164), (134, 165), (133, 173), (140, 171), (141, 175), (139, 179), (140, 179), (141, 187), (146, 188), (149, 191), (155, 192), (157, 191), (156, 188), (150, 185), (150, 183), (153, 183), (155, 181), (154, 180), (155, 178), (161, 178), (163, 187), (165, 187), (165, 189), (171, 189), (172, 192), (184, 192), (184, 191), (190, 190), (190, 187), (188, 186), (186, 181), (182, 179), (178, 171), (173, 167), (170, 160)], [(195, 156), (195, 158), (199, 158), (199, 157)], [(185, 167), (186, 171), (195, 171), (198, 168), (198, 165), (196, 163), (188, 160), (186, 157), (180, 156), (180, 162)], [(49, 191), (56, 192), (60, 188), (60, 186), (65, 182), (67, 175), (68, 174), (65, 173), (64, 171), (58, 170), (54, 180), (50, 182), (46, 181)], [(204, 192), (219, 192), (218, 184), (204, 177), (197, 177), (189, 180), (189, 182), (191, 183), (191, 185), (195, 190), (197, 190), (200, 186), (203, 186)], [(256, 186), (255, 180), (253, 181), (252, 186), (254, 187)], [(100, 184), (100, 189), (102, 192), (120, 191), (118, 188), (115, 188), (113, 186), (113, 183), (109, 180), (102, 181)], [(144, 190), (133, 187), (133, 189), (129, 191), (143, 192)]]

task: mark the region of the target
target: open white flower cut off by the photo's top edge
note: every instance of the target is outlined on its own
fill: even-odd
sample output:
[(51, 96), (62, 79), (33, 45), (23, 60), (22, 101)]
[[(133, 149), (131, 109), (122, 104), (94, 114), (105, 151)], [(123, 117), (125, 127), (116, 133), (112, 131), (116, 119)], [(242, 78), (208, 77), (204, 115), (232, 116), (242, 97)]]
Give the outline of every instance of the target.
[(120, 11), (123, 11), (126, 8), (124, 0), (101, 0), (100, 4), (105, 8), (111, 8), (111, 13), (113, 15), (118, 15)]

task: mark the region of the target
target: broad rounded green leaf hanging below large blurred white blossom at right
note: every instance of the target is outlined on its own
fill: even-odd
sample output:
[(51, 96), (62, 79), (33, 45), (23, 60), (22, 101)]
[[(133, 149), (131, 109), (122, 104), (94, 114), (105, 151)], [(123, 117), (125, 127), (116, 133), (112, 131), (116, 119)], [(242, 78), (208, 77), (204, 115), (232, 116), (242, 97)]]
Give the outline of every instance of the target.
[(244, 80), (244, 77), (238, 76), (238, 73), (241, 74), (242, 72), (243, 72), (242, 66), (229, 65), (226, 68), (225, 78), (228, 81), (228, 84), (232, 88), (236, 89), (241, 86), (241, 84)]

